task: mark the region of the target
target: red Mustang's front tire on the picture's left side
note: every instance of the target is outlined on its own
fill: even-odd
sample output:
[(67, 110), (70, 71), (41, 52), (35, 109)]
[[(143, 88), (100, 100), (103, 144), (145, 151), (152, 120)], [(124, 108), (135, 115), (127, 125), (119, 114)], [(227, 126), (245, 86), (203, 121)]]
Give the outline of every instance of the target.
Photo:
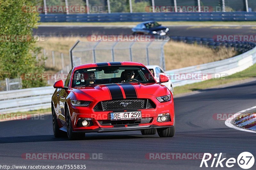
[(73, 127), (72, 127), (72, 123), (71, 123), (72, 121), (71, 121), (71, 117), (69, 115), (68, 107), (66, 108), (65, 113), (66, 113), (66, 123), (67, 123), (68, 139), (69, 140), (84, 139), (85, 138), (85, 133), (73, 132)]

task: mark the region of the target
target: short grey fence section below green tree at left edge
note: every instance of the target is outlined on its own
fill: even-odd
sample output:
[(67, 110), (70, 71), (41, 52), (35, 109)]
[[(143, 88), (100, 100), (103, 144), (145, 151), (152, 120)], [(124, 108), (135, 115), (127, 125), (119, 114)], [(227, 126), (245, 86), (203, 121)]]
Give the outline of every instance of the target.
[(22, 88), (21, 78), (5, 78), (5, 80), (0, 80), (0, 91), (9, 91)]

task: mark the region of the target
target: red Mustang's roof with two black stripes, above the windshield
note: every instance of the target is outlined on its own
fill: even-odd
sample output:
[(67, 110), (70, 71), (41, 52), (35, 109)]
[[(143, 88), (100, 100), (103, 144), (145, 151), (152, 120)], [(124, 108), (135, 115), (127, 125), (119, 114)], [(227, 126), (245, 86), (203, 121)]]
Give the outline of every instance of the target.
[(74, 70), (90, 68), (90, 67), (99, 67), (99, 66), (111, 66), (111, 65), (136, 65), (136, 66), (144, 66), (142, 63), (130, 62), (130, 61), (122, 61), (122, 62), (102, 62), (102, 63), (87, 63), (81, 64), (74, 67)]

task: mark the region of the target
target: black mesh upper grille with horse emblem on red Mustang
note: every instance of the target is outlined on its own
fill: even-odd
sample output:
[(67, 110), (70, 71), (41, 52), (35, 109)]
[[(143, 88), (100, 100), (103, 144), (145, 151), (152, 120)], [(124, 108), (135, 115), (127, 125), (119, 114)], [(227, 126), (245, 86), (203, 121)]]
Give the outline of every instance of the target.
[[(124, 103), (124, 104), (123, 104)], [(128, 104), (127, 104), (128, 103)], [(94, 111), (113, 111), (113, 110), (134, 110), (155, 108), (156, 105), (149, 99), (123, 99), (101, 101), (93, 108)]]

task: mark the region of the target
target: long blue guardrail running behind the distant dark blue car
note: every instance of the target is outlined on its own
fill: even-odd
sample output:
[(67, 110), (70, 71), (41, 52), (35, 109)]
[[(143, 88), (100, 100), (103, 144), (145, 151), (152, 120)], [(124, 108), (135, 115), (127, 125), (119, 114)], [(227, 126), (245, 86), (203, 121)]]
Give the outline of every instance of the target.
[(256, 21), (256, 12), (40, 14), (40, 22)]

